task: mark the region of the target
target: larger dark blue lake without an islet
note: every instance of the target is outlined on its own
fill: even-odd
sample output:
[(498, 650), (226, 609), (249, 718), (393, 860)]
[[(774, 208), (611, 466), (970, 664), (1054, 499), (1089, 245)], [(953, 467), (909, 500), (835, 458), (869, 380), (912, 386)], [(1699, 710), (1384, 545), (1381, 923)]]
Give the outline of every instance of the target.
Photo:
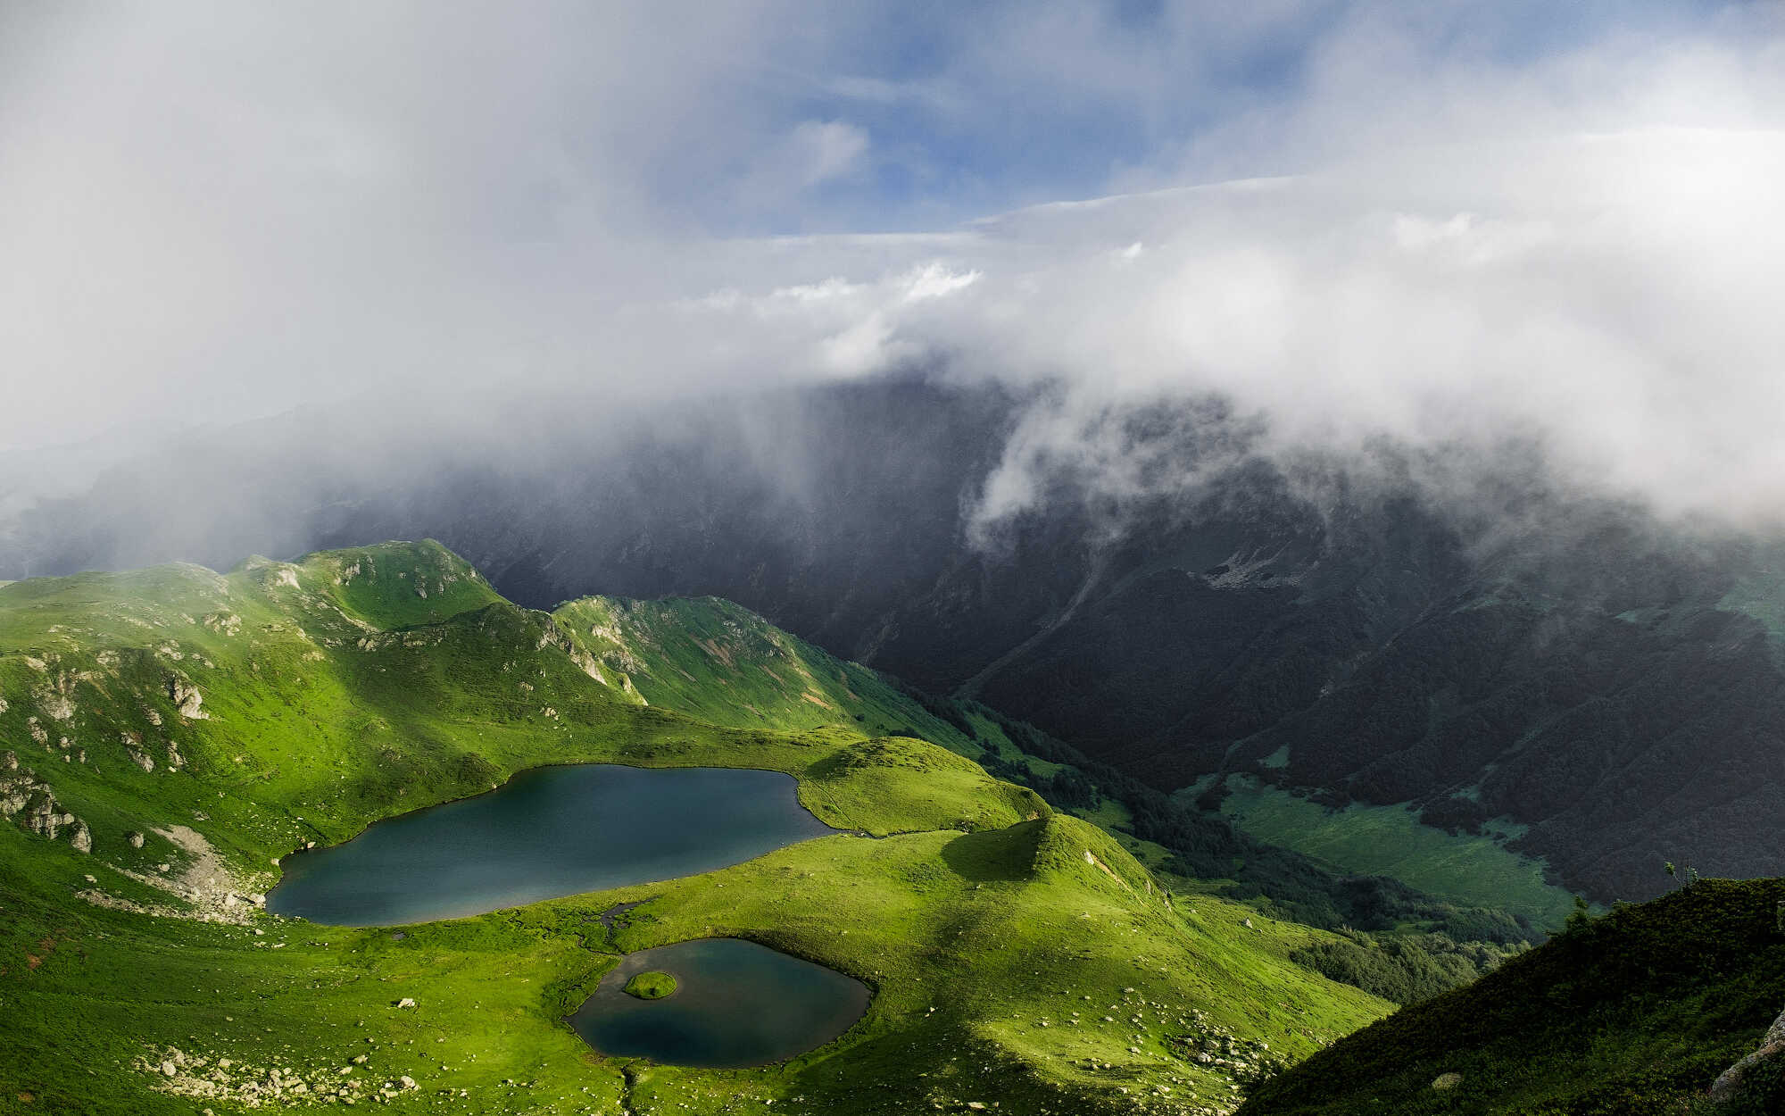
[(796, 786), (741, 768), (536, 768), (291, 854), (266, 909), (386, 927), (712, 871), (837, 832), (800, 805)]

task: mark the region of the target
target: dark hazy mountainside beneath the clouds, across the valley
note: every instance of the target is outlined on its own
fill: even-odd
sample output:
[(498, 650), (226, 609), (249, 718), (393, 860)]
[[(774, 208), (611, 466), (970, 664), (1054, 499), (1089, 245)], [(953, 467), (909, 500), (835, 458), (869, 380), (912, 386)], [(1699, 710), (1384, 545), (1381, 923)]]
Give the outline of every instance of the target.
[[(1664, 859), (1785, 873), (1760, 836), (1785, 825), (1778, 554), (1681, 539), (1532, 461), (1262, 459), (1212, 405), (1087, 420), (1135, 466), (1112, 487), (1025, 457), (1083, 418), (1046, 405), (914, 379), (568, 400), (525, 409), (516, 445), (371, 423), (327, 455), (273, 423), (0, 521), (0, 577), (432, 536), (534, 607), (737, 600), (1164, 791), (1250, 775), (1515, 834), (1601, 902), (1655, 895)], [(1007, 462), (1035, 502), (976, 532)], [(1380, 480), (1410, 470), (1446, 496)]]

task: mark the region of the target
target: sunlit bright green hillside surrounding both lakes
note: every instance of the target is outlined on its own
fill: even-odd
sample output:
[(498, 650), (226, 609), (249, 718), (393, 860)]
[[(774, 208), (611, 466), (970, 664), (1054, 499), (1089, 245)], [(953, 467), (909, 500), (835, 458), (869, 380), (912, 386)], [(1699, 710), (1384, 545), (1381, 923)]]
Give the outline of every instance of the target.
[[(1389, 1009), (1291, 959), (1335, 936), (1173, 898), (959, 754), (639, 689), (430, 543), (0, 587), (0, 1111), (1205, 1112)], [(402, 932), (259, 905), (295, 848), (573, 761), (787, 771), (851, 832)], [(621, 952), (710, 934), (868, 1016), (739, 1071), (564, 1025)]]

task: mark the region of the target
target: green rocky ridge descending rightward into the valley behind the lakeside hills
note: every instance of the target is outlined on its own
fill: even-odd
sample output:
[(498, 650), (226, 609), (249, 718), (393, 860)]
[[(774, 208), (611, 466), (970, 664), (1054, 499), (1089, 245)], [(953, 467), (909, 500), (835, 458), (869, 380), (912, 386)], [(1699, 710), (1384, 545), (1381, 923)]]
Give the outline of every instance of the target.
[[(960, 752), (1005, 780), (1034, 787), (1055, 809), (1098, 821), (1178, 891), (1214, 891), (1289, 921), (1344, 930), (1298, 952), (1298, 961), (1399, 1004), (1474, 979), (1508, 946), (1560, 927), (1573, 909), (1565, 891), (1533, 880), (1515, 857), (1467, 836), (1421, 846), (1405, 832), (1353, 825), (1358, 845), (1417, 852), (1423, 879), (1446, 895), (1389, 879), (1412, 855), (1383, 861), (1378, 873), (1328, 868), (1196, 809), (1194, 796), (1167, 796), (980, 702), (912, 691), (718, 596), (591, 596), (560, 605), (555, 616), (605, 680), (635, 689), (653, 707), (741, 729), (916, 736)], [(1333, 814), (1330, 823), (1351, 821)], [(1314, 829), (1280, 827), (1273, 836), (1287, 845)]]

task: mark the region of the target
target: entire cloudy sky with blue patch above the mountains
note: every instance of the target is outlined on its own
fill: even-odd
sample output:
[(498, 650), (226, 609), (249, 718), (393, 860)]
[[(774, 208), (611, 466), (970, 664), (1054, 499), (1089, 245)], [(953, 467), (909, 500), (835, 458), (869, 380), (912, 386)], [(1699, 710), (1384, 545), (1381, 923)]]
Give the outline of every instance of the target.
[(1057, 387), (992, 518), (1216, 395), (1776, 521), (1781, 75), (1778, 4), (4, 5), (0, 462), (921, 366)]

